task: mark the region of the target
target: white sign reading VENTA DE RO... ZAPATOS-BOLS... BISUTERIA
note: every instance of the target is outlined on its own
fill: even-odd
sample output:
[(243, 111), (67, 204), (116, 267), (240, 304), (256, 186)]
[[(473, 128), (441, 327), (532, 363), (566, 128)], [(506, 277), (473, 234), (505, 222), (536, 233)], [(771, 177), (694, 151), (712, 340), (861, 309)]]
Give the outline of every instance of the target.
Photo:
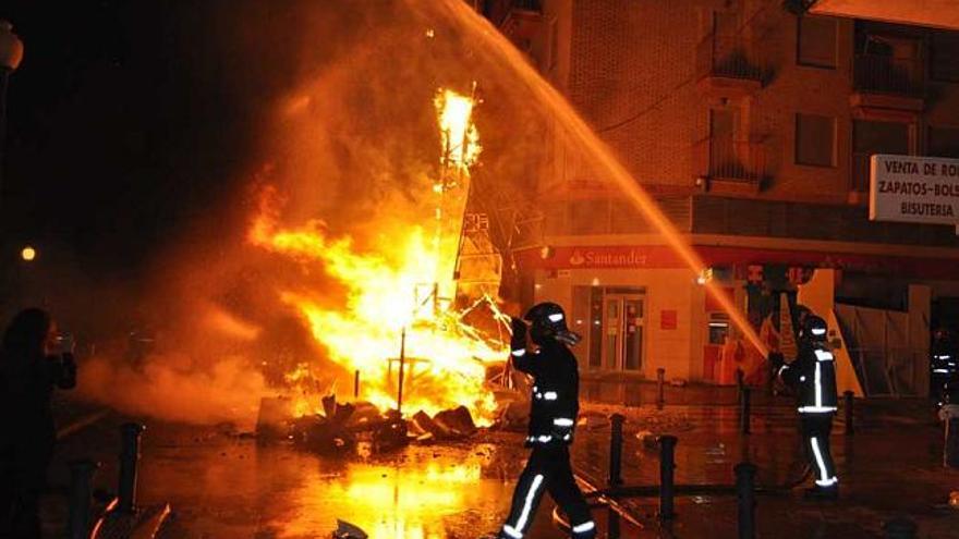
[(959, 159), (873, 156), (870, 220), (959, 225)]

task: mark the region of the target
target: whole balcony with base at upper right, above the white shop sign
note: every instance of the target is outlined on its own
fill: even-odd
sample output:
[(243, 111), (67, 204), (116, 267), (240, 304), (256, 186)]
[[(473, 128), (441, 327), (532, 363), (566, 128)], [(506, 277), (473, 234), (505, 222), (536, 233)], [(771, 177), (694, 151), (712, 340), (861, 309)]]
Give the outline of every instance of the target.
[(899, 115), (918, 114), (925, 106), (922, 68), (918, 58), (857, 54), (850, 103), (866, 118), (882, 118), (882, 110), (898, 111)]

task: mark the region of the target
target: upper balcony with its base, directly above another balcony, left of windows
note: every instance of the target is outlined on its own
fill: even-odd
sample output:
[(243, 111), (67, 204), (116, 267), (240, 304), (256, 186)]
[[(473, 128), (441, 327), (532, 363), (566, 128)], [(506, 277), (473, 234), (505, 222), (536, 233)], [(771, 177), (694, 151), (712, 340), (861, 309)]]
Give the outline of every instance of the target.
[(743, 97), (758, 90), (769, 74), (760, 50), (742, 36), (709, 34), (696, 49), (700, 89), (713, 97)]

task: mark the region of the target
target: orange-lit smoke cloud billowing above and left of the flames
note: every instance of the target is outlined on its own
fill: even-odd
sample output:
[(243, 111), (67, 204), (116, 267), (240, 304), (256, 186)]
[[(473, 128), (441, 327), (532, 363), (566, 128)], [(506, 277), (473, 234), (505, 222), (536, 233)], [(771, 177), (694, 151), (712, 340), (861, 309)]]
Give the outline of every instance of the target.
[[(397, 231), (433, 220), (439, 88), (469, 94), (477, 84), (477, 209), (512, 211), (533, 196), (555, 150), (545, 143), (549, 119), (477, 41), (412, 3), (248, 2), (218, 20), (211, 38), (222, 40), (224, 77), (238, 88), (268, 81), (242, 100), (263, 111), (250, 126), (256, 151), (236, 156), (247, 171), (209, 180), (245, 187), (157, 247), (137, 307), (114, 328), (120, 336), (81, 366), (84, 397), (166, 420), (250, 425), (259, 400), (284, 391), (299, 365), (323, 366), (349, 387), (352, 372), (326, 360), (280, 294), (345, 306), (347, 291), (321, 267), (250, 245), (247, 231), (269, 188), (279, 225), (312, 223), (360, 253), (396, 254)], [(138, 335), (151, 341), (137, 344)]]

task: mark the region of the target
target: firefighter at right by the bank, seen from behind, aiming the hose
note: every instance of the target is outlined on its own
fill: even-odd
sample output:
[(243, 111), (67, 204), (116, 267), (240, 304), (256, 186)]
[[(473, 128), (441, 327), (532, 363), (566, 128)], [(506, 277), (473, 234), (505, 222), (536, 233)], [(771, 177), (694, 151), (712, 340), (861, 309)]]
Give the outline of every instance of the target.
[(803, 445), (816, 477), (808, 498), (834, 500), (839, 485), (829, 452), (833, 416), (836, 415), (836, 363), (826, 343), (826, 321), (808, 315), (800, 329), (799, 355), (779, 369), (779, 378), (798, 396)]

